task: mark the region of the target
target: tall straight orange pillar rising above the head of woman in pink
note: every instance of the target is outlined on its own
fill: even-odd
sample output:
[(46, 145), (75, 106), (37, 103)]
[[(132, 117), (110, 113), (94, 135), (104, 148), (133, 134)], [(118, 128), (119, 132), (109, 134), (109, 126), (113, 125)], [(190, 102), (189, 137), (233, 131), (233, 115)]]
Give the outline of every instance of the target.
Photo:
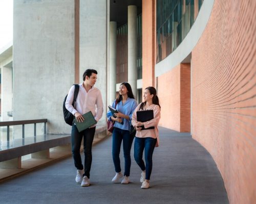
[(142, 82), (155, 86), (155, 0), (142, 0)]

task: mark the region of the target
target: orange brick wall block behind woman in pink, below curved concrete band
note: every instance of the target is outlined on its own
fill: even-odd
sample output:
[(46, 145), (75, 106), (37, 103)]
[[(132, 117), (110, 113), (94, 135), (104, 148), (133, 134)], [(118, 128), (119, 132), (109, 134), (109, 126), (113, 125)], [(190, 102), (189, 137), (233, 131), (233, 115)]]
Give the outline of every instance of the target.
[(179, 64), (158, 77), (160, 126), (190, 132), (190, 64)]

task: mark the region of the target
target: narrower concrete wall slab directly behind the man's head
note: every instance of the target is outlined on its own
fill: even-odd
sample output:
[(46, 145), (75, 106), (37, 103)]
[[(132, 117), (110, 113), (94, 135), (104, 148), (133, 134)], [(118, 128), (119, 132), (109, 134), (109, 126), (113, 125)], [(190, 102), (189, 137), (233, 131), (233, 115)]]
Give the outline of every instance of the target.
[(106, 123), (108, 16), (108, 1), (80, 1), (80, 82), (87, 68), (98, 71), (95, 87), (100, 89), (104, 103), (100, 124)]

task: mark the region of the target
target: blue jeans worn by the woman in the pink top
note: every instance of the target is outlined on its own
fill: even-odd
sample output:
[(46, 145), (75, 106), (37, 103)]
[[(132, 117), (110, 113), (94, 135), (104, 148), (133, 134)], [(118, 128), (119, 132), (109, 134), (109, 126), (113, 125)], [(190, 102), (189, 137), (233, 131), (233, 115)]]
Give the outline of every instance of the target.
[[(134, 159), (142, 171), (146, 170), (146, 180), (150, 180), (152, 172), (152, 156), (156, 146), (157, 139), (152, 137), (138, 138), (135, 137), (134, 141)], [(143, 150), (145, 149), (145, 163), (142, 159)]]

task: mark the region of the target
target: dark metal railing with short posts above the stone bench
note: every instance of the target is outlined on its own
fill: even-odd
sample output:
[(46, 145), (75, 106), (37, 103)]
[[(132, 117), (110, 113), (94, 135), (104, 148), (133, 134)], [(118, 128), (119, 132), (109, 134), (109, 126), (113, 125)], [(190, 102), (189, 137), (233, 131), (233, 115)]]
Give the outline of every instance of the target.
[(45, 123), (44, 134), (46, 134), (47, 119), (4, 121), (4, 122), (0, 122), (0, 126), (7, 126), (7, 141), (9, 141), (10, 140), (10, 126), (22, 125), (22, 138), (25, 138), (25, 124), (34, 124), (34, 136), (36, 136), (36, 123), (42, 123), (42, 122)]

